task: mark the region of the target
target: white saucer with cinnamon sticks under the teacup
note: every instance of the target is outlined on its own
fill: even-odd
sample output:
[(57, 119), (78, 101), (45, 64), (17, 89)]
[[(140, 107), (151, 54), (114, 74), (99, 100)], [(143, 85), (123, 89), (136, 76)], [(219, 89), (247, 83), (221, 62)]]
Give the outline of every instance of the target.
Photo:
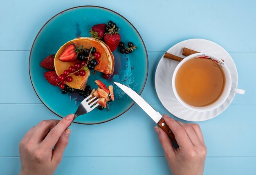
[[(187, 47), (198, 52), (213, 54), (224, 60), (231, 74), (231, 86), (237, 87), (238, 74), (236, 65), (229, 53), (223, 47), (209, 40), (189, 39), (177, 43), (168, 49), (167, 52), (185, 58), (186, 56), (182, 55), (183, 47)], [(235, 93), (230, 92), (227, 100), (222, 105), (220, 105), (220, 107), (208, 112), (195, 112), (185, 108), (175, 98), (171, 85), (173, 72), (177, 64), (177, 61), (173, 61), (162, 56), (155, 72), (155, 90), (157, 92), (157, 96), (166, 110), (171, 112), (171, 114), (174, 116), (187, 121), (209, 120), (223, 112), (234, 99)]]

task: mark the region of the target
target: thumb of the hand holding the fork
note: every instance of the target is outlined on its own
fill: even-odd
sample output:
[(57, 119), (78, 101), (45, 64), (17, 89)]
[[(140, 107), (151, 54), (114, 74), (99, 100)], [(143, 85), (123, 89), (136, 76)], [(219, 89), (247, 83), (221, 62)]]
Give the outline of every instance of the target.
[(61, 137), (58, 139), (56, 145), (54, 146), (54, 150), (52, 153), (52, 159), (56, 162), (61, 162), (62, 155), (64, 153), (65, 148), (67, 147), (68, 139), (70, 137), (70, 129), (66, 129)]

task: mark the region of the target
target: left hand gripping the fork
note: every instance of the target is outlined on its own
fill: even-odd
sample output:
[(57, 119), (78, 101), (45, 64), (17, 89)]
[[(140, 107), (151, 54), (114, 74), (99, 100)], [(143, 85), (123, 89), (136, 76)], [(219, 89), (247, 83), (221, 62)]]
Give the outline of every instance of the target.
[(20, 175), (54, 173), (67, 146), (71, 130), (66, 128), (73, 118), (74, 114), (69, 114), (61, 121), (44, 120), (27, 132), (19, 145)]

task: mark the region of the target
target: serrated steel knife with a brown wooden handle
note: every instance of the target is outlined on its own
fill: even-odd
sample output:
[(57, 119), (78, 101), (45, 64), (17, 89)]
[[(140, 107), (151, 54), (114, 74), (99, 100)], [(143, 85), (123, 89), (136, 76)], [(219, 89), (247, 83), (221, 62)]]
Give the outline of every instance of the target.
[(149, 117), (151, 117), (151, 119), (153, 119), (155, 123), (157, 123), (157, 125), (160, 128), (162, 128), (162, 130), (164, 130), (164, 132), (166, 132), (166, 134), (169, 137), (171, 137), (171, 139), (175, 141), (175, 143), (177, 144), (173, 132), (165, 123), (164, 119), (162, 118), (162, 115), (159, 112), (157, 112), (150, 104), (148, 104), (148, 102), (146, 102), (146, 100), (144, 100), (139, 94), (137, 94), (134, 90), (132, 90), (128, 86), (123, 85), (121, 83), (117, 83), (117, 82), (114, 82), (114, 83), (121, 90), (123, 90), (128, 96), (130, 96), (130, 98), (132, 98), (132, 100), (134, 100), (135, 103), (137, 103), (137, 105), (139, 105), (139, 107), (141, 107), (149, 115)]

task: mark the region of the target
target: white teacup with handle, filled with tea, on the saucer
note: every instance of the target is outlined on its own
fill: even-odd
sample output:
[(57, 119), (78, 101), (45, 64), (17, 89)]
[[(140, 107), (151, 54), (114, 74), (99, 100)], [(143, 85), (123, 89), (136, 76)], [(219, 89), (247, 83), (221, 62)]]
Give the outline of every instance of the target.
[(230, 92), (234, 92), (237, 94), (245, 94), (245, 90), (238, 89), (236, 87), (231, 87), (231, 75), (230, 75), (227, 65), (224, 62), (223, 64), (221, 64), (221, 66), (222, 66), (222, 70), (225, 75), (225, 86), (224, 86), (224, 90), (222, 91), (222, 94), (220, 95), (219, 99), (216, 100), (215, 102), (211, 103), (210, 105), (202, 106), (202, 107), (196, 107), (196, 106), (189, 105), (188, 103), (185, 103), (180, 98), (180, 96), (176, 90), (175, 79), (176, 79), (177, 72), (186, 61), (194, 58), (195, 56), (202, 56), (202, 55), (208, 56), (216, 61), (223, 63), (223, 61), (220, 58), (218, 58), (214, 55), (206, 54), (206, 53), (197, 53), (197, 54), (192, 54), (192, 55), (187, 56), (177, 65), (177, 67), (175, 68), (174, 73), (173, 73), (172, 87), (173, 87), (173, 92), (174, 92), (175, 97), (184, 107), (188, 108), (189, 110), (193, 110), (193, 111), (197, 111), (197, 112), (206, 112), (206, 111), (214, 110), (214, 109), (218, 108), (220, 105), (222, 105), (226, 101)]

